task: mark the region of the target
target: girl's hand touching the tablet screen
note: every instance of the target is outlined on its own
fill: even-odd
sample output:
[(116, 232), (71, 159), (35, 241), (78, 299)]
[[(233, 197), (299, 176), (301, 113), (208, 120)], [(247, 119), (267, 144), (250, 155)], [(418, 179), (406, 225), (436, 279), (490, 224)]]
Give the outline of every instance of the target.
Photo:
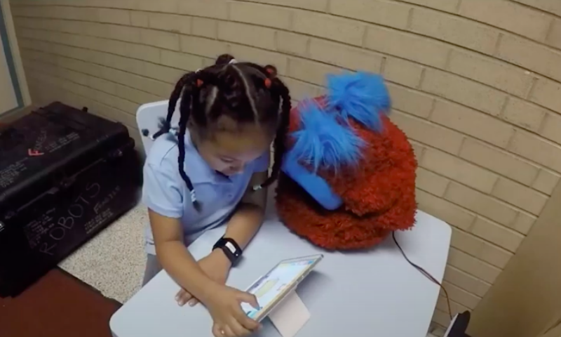
[(212, 291), (212, 296), (205, 300), (205, 305), (214, 321), (212, 333), (215, 337), (248, 336), (259, 329), (259, 323), (250, 319), (241, 308), (241, 303), (249, 303), (259, 309), (255, 295), (221, 286)]

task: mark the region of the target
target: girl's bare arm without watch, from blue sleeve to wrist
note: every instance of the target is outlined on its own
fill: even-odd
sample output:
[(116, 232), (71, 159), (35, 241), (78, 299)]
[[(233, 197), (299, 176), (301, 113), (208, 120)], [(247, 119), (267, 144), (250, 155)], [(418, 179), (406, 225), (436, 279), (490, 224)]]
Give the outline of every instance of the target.
[(203, 302), (212, 293), (215, 286), (220, 286), (198, 265), (183, 243), (183, 230), (180, 219), (162, 216), (151, 209), (148, 210), (156, 256), (163, 269), (183, 289), (189, 289), (196, 298)]

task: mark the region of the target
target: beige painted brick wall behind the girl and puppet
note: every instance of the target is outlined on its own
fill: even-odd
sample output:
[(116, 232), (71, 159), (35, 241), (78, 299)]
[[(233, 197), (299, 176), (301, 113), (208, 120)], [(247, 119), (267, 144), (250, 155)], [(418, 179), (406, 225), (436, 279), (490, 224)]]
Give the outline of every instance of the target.
[[(35, 103), (126, 124), (219, 53), (273, 63), (295, 100), (380, 72), (419, 159), (419, 208), (453, 226), (445, 287), (473, 309), (561, 176), (560, 0), (12, 0)], [(447, 324), (438, 301), (434, 320)]]

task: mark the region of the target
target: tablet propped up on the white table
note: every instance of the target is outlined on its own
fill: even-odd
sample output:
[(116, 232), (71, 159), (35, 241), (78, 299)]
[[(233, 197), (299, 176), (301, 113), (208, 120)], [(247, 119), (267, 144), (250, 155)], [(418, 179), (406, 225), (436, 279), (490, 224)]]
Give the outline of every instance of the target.
[(302, 279), (323, 258), (323, 255), (304, 256), (302, 258), (291, 258), (282, 260), (262, 277), (259, 277), (246, 291), (257, 297), (261, 308), (253, 308), (248, 303), (242, 303), (241, 307), (248, 317), (260, 322), (269, 312), (282, 302), (290, 291), (294, 290)]

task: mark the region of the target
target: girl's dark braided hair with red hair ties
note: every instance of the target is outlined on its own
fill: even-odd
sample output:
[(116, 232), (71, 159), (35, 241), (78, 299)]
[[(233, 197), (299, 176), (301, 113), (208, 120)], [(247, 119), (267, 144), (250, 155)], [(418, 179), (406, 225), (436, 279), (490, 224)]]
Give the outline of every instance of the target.
[(233, 56), (224, 54), (217, 58), (215, 65), (184, 74), (175, 84), (170, 96), (167, 118), (163, 121), (161, 130), (154, 134), (154, 138), (170, 131), (173, 112), (180, 98), (179, 171), (197, 209), (199, 205), (193, 184), (184, 171), (184, 138), (188, 123), (204, 131), (219, 117), (227, 116), (238, 123), (253, 122), (275, 126), (271, 176), (262, 185), (253, 188), (258, 190), (267, 187), (276, 180), (285, 153), (291, 103), (288, 88), (276, 77), (275, 67), (236, 62)]

